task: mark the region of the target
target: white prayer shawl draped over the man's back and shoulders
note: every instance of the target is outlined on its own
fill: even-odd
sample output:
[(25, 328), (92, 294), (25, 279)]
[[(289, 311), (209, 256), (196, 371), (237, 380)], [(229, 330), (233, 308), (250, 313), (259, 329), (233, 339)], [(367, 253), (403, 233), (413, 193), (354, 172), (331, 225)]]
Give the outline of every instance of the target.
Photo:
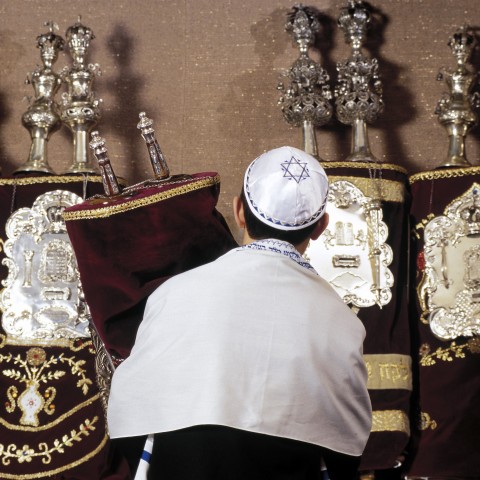
[(371, 428), (362, 323), (289, 244), (256, 245), (150, 296), (113, 375), (112, 438), (214, 424), (362, 454)]

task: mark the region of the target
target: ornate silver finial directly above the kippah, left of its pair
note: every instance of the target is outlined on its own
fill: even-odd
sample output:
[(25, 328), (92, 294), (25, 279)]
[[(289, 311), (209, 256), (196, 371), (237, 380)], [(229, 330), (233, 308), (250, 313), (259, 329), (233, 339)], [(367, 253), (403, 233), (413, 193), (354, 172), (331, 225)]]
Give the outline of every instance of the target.
[(282, 96), (278, 103), (285, 120), (290, 125), (302, 127), (303, 150), (320, 160), (315, 127), (331, 119), (333, 108), (330, 104), (330, 78), (321, 65), (308, 55), (320, 30), (316, 11), (301, 4), (295, 5), (288, 15), (286, 30), (292, 33), (300, 49), (300, 57), (282, 74), (278, 84)]

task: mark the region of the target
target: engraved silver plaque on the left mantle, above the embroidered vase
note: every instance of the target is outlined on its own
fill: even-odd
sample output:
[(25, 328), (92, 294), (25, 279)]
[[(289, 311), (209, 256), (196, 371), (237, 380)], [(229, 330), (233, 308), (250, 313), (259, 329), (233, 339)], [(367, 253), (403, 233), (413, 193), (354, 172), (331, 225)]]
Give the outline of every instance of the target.
[(80, 305), (80, 281), (62, 212), (82, 202), (72, 192), (40, 195), (6, 224), (8, 276), (0, 295), (2, 326), (18, 341), (89, 337), (88, 309)]

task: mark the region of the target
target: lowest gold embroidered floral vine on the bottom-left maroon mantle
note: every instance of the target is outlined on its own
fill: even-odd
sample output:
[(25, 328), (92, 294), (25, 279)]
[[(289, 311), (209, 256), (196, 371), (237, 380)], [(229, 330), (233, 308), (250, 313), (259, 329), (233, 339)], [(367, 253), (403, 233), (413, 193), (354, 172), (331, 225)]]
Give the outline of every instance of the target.
[(64, 453), (65, 448), (72, 447), (74, 442), (81, 442), (83, 437), (90, 435), (90, 432), (95, 430), (95, 424), (98, 417), (92, 420), (86, 419), (80, 424), (78, 431), (71, 430), (70, 435), (63, 435), (61, 439), (55, 439), (52, 445), (46, 442), (38, 444), (38, 449), (31, 448), (30, 445), (23, 445), (18, 447), (11, 443), (6, 446), (0, 443), (0, 458), (3, 465), (10, 465), (12, 460), (17, 460), (18, 463), (31, 462), (33, 458), (40, 457), (44, 465), (48, 465), (52, 461), (52, 454)]

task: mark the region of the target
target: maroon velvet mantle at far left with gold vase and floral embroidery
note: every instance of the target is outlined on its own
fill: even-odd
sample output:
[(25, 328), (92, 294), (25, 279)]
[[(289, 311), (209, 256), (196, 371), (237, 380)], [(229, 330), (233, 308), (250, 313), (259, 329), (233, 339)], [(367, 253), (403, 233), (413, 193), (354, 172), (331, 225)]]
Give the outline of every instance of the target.
[[(11, 213), (32, 207), (38, 196), (53, 190), (66, 190), (83, 197), (103, 192), (103, 186), (98, 176), (84, 179), (26, 175), (0, 179), (1, 241), (7, 239), (5, 225)], [(4, 258), (2, 249), (0, 259)], [(7, 273), (7, 267), (1, 263), (0, 279), (4, 280)], [(35, 367), (28, 361), (32, 348), (41, 348), (46, 359), (36, 368), (43, 368), (48, 378), (39, 381), (37, 389), (44, 399), (53, 400), (45, 405), (46, 411), (44, 408), (38, 412), (38, 425), (21, 421), (18, 405), (29, 385), (28, 371), (31, 373)], [(47, 366), (51, 359), (55, 360)], [(0, 478), (130, 479), (126, 462), (114, 454), (106, 433), (90, 339), (75, 340), (69, 346), (45, 342), (11, 345), (0, 329), (0, 372), (0, 444), (4, 447), (0, 455)], [(55, 376), (54, 372), (61, 373)], [(55, 390), (47, 392), (47, 388)], [(91, 423), (87, 425), (86, 421)], [(70, 441), (72, 436), (75, 439)]]

